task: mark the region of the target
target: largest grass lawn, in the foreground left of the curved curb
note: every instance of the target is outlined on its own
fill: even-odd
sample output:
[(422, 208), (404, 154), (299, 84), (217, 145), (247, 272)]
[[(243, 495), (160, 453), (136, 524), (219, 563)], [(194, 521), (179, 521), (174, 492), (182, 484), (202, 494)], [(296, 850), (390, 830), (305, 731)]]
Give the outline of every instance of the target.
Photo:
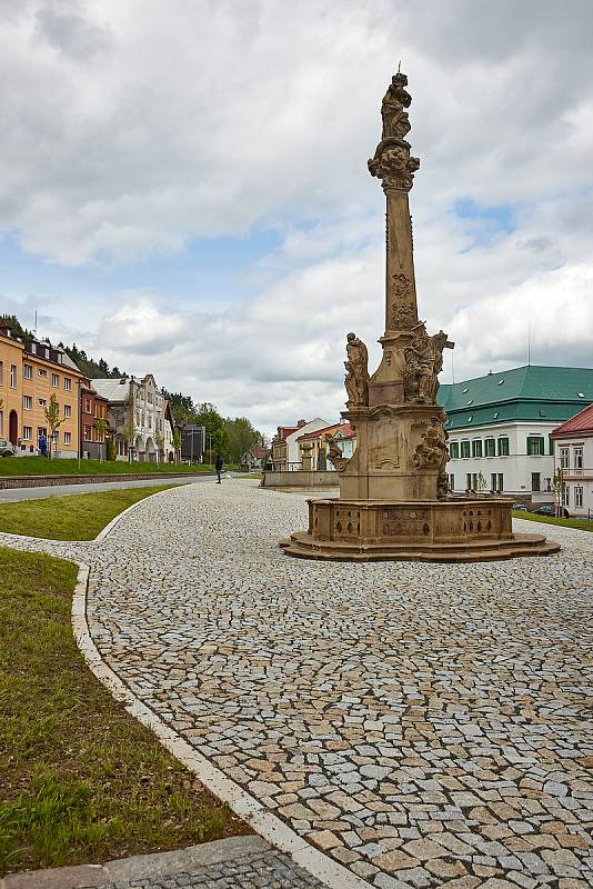
[(0, 876), (249, 832), (87, 668), (77, 568), (0, 548)]

